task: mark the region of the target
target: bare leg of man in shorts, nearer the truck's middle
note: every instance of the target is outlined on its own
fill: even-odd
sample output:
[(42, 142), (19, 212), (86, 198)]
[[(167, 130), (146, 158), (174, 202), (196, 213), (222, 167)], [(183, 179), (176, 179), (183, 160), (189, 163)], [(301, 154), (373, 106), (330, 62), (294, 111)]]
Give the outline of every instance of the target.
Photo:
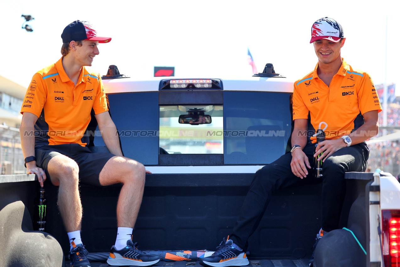
[(134, 228), (142, 203), (145, 167), (126, 157), (112, 157), (100, 172), (100, 184), (123, 183), (117, 204), (118, 227)]

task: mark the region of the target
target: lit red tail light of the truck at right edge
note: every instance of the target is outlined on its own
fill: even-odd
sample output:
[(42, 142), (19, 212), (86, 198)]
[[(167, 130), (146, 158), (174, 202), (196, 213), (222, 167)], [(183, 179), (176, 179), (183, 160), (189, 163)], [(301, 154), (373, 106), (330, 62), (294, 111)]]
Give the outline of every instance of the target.
[(400, 211), (382, 210), (382, 255), (386, 267), (400, 267)]

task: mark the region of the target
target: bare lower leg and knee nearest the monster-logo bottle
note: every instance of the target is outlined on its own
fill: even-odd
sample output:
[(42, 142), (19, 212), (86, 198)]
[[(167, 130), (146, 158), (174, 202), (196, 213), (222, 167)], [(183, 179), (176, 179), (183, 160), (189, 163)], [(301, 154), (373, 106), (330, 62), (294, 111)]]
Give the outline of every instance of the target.
[(48, 173), (53, 185), (59, 186), (58, 207), (67, 232), (80, 230), (82, 203), (78, 187), (78, 164), (65, 155), (50, 159)]

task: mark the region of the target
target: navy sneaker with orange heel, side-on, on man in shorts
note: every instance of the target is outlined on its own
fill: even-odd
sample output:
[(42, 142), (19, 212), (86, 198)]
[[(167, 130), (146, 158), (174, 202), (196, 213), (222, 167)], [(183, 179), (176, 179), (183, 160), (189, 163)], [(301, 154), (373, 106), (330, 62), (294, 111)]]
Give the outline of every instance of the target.
[(149, 255), (137, 248), (138, 243), (132, 240), (126, 241), (126, 247), (117, 250), (115, 246), (111, 247), (110, 257), (107, 263), (111, 266), (150, 266), (160, 261), (160, 257)]

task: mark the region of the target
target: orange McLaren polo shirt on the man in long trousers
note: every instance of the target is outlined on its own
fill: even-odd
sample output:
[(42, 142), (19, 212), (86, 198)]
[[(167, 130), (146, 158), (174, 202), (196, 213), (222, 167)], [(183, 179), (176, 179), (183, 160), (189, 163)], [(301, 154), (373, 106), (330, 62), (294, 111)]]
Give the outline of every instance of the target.
[[(294, 83), (293, 120), (307, 119), (310, 113), (314, 130), (325, 129), (326, 139), (336, 139), (362, 126), (364, 113), (382, 111), (368, 73), (354, 70), (343, 60), (328, 87), (318, 78), (317, 68), (318, 64)], [(316, 137), (311, 141), (315, 143)]]

